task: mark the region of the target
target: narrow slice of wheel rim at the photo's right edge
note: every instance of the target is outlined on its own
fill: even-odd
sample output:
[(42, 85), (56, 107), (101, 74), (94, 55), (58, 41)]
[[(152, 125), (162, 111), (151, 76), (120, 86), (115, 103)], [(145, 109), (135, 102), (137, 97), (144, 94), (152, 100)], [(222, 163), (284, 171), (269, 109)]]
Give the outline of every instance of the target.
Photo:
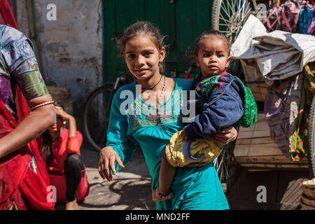
[(309, 109), (307, 124), (307, 160), (309, 162), (309, 179), (315, 179), (315, 97)]

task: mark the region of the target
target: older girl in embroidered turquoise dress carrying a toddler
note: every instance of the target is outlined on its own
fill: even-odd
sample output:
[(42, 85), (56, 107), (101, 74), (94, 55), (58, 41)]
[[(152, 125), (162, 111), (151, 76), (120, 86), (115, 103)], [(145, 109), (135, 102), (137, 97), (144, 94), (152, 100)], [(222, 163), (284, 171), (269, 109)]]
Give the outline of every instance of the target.
[[(113, 175), (125, 167), (139, 144), (153, 179), (152, 188), (157, 188), (162, 151), (172, 135), (184, 127), (182, 94), (190, 89), (191, 81), (164, 75), (163, 40), (150, 22), (136, 22), (118, 42), (136, 81), (120, 87), (113, 97), (107, 146), (99, 158), (99, 174), (103, 179), (113, 180)], [(138, 88), (141, 85), (141, 91), (136, 91), (136, 85)], [(151, 94), (146, 94), (148, 90)], [(126, 93), (132, 96), (127, 106)], [(235, 129), (229, 134), (223, 138), (225, 143), (235, 139), (231, 137)], [(213, 163), (192, 169), (179, 168), (172, 188), (176, 190), (172, 200), (157, 202), (157, 209), (229, 208)]]

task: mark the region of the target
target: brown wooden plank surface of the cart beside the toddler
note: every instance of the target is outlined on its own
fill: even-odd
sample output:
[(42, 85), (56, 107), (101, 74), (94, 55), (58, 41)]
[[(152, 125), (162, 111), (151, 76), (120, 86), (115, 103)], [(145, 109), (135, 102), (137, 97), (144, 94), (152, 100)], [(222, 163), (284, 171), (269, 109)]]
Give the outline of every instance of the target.
[(251, 169), (307, 169), (307, 158), (293, 162), (286, 158), (270, 137), (265, 114), (258, 113), (255, 124), (249, 128), (240, 127), (234, 155), (242, 167)]

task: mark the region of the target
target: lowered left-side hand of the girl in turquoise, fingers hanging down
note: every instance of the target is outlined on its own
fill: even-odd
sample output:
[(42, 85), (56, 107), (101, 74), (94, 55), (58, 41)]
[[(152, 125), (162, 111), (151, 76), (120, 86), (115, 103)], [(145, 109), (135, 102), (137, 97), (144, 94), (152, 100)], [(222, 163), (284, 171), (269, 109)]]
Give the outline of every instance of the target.
[(113, 172), (113, 175), (116, 175), (115, 162), (118, 163), (119, 167), (125, 168), (119, 155), (113, 150), (113, 148), (111, 148), (111, 146), (102, 148), (99, 155), (99, 175), (102, 176), (102, 179), (113, 181), (111, 171)]

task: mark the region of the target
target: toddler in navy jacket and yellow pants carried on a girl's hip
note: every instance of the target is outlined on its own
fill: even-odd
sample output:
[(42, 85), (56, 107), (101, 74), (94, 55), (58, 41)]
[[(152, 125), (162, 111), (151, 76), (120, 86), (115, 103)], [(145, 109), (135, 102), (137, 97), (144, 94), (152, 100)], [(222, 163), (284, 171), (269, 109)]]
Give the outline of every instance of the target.
[(232, 59), (229, 51), (228, 38), (218, 31), (206, 31), (197, 38), (195, 61), (201, 75), (192, 86), (195, 89), (199, 83), (195, 89), (197, 116), (181, 132), (175, 133), (166, 146), (159, 187), (153, 190), (154, 201), (172, 197), (170, 188), (176, 167), (203, 166), (220, 155), (221, 147), (214, 144), (212, 135), (239, 120), (244, 127), (255, 123), (257, 107), (251, 91), (225, 71)]

